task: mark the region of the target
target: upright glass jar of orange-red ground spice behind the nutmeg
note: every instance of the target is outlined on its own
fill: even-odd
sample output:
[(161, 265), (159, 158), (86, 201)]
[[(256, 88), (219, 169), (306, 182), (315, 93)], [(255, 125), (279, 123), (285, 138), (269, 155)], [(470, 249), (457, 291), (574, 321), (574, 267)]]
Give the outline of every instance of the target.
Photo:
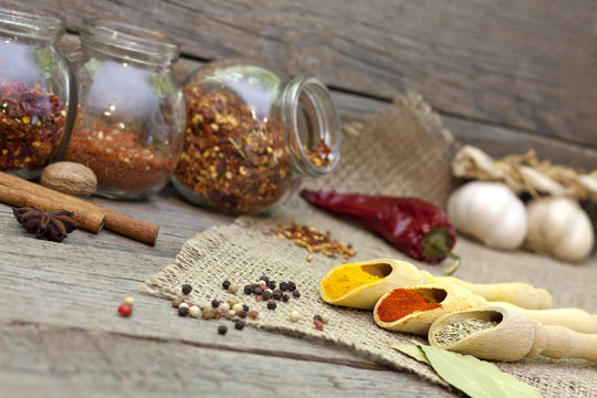
[(178, 45), (126, 23), (87, 20), (71, 54), (77, 114), (65, 160), (95, 171), (95, 195), (144, 199), (174, 174), (184, 144)]

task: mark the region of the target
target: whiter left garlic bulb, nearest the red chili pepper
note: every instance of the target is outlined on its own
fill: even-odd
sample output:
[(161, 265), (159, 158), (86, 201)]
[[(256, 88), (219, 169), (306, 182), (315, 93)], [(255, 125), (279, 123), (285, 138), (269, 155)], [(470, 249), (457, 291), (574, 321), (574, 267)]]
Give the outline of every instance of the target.
[(489, 247), (514, 250), (526, 235), (524, 203), (502, 182), (471, 181), (448, 198), (454, 227)]

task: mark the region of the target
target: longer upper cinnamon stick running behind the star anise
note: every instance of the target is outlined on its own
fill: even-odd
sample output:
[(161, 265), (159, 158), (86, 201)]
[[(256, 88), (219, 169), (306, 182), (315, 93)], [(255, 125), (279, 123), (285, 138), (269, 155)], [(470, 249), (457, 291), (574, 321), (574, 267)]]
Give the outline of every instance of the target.
[[(156, 244), (159, 231), (159, 227), (156, 224), (142, 221), (130, 216), (126, 216), (118, 211), (93, 203), (88, 200), (62, 193), (2, 171), (0, 171), (0, 186), (27, 192), (29, 199), (39, 197), (49, 202), (54, 202), (54, 206), (57, 205), (64, 207), (66, 210), (73, 211), (75, 214), (78, 212), (100, 212), (105, 216), (104, 228), (146, 244)], [(0, 197), (0, 200), (4, 201), (2, 197)], [(29, 203), (25, 206), (31, 205), (35, 206), (34, 203)]]

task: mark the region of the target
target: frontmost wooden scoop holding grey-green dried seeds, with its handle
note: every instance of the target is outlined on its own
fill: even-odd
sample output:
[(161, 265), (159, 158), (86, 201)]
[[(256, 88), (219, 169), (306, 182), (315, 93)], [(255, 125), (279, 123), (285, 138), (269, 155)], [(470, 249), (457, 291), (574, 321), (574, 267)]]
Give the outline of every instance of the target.
[[(469, 318), (499, 324), (473, 332), (455, 343), (438, 343), (436, 336), (441, 329)], [(597, 334), (577, 333), (563, 326), (544, 326), (521, 311), (503, 306), (443, 315), (433, 322), (428, 337), (433, 346), (482, 359), (517, 360), (541, 354), (552, 358), (575, 357), (597, 362)]]

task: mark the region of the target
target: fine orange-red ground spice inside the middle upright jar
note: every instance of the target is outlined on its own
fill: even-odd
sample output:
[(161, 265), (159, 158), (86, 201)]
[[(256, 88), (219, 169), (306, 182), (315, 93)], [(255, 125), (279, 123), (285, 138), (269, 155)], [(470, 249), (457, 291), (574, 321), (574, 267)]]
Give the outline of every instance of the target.
[(78, 116), (64, 159), (90, 167), (101, 187), (144, 192), (166, 185), (176, 169), (177, 154), (176, 148), (158, 154), (133, 128), (90, 126)]

